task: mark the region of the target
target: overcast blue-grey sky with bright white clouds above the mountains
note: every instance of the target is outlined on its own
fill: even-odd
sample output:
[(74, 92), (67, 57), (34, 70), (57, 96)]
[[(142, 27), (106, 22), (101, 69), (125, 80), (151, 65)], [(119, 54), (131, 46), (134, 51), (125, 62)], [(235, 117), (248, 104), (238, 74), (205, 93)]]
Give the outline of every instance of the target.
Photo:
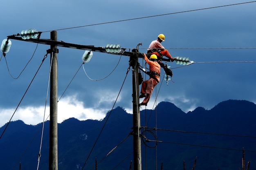
[[(189, 57), (195, 63), (180, 67), (175, 62), (168, 62), (173, 68), (174, 83), (170, 81), (167, 85), (165, 80), (159, 83), (147, 108), (155, 107), (155, 96), (159, 93), (157, 103), (171, 102), (187, 113), (199, 106), (211, 109), (228, 99), (256, 103), (256, 62), (249, 62), (256, 61), (256, 2), (204, 9), (243, 2), (250, 1), (62, 0), (60, 3), (58, 0), (8, 0), (0, 6), (0, 35), (4, 40), (22, 30), (37, 29), (43, 32), (41, 38), (50, 39), (50, 31), (57, 30), (60, 41), (96, 47), (120, 44), (126, 51), (142, 43), (139, 52), (146, 53), (150, 42), (163, 33), (166, 39), (162, 45), (173, 57)], [(204, 10), (191, 11), (196, 9)], [(177, 13), (182, 11), (190, 12)], [(149, 17), (154, 15), (159, 16)], [(141, 19), (129, 20), (134, 18)], [(127, 21), (113, 22), (120, 20)], [(113, 23), (101, 24), (106, 22)], [(87, 26), (92, 24), (96, 25)], [(0, 126), (11, 119), (47, 49), (50, 49), (44, 44), (38, 44), (36, 49), (36, 43), (11, 42), (10, 51), (0, 60)], [(79, 69), (83, 50), (58, 49), (58, 98), (63, 95), (58, 102), (58, 122), (70, 117), (103, 119), (113, 107), (124, 82), (129, 57), (94, 52), (90, 62)], [(139, 63), (143, 65), (145, 62), (139, 59)], [(21, 119), (26, 124), (35, 125), (43, 122), (44, 113), (45, 118), (49, 115), (49, 66), (50, 55), (43, 62), (12, 121)], [(115, 71), (106, 77), (116, 66)], [(25, 70), (18, 77), (23, 68)], [(161, 75), (162, 81), (163, 69)], [(144, 76), (144, 79), (148, 77)], [(131, 94), (130, 71), (115, 107), (121, 106), (132, 113)]]

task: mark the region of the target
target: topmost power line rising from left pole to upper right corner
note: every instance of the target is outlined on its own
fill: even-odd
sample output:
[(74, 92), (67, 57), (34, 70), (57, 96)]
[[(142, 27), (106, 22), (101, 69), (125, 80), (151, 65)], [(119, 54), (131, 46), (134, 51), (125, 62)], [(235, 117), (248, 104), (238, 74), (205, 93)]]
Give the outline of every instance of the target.
[[(173, 12), (173, 13), (165, 13), (165, 14), (159, 14), (159, 15), (151, 15), (151, 16), (146, 16), (146, 17), (139, 17), (139, 18), (126, 19), (126, 20), (102, 22), (102, 23), (98, 23), (98, 24), (89, 24), (89, 25), (83, 25), (83, 26), (74, 26), (74, 27), (70, 27), (70, 28), (56, 29), (56, 30), (51, 30), (51, 31), (60, 31), (60, 30), (65, 30), (65, 29), (81, 28), (81, 27), (85, 27), (85, 26), (95, 26), (95, 25), (110, 24), (110, 23), (115, 23), (115, 22), (124, 22), (124, 21), (139, 20), (139, 19), (144, 19), (144, 18), (153, 18), (153, 17), (159, 17), (159, 16), (164, 16), (164, 15), (172, 15), (172, 14), (177, 14), (177, 13), (201, 11), (201, 10), (205, 10), (205, 9), (214, 9), (214, 8), (220, 8), (220, 7), (229, 7), (229, 6), (240, 5), (240, 4), (249, 4), (249, 3), (253, 3), (253, 2), (256, 2), (256, 1), (242, 2), (242, 3), (237, 3), (237, 4), (228, 4), (228, 5), (222, 5), (222, 6), (217, 6), (217, 7), (208, 7), (208, 8), (201, 8), (201, 9), (193, 9), (193, 10), (180, 11), (180, 12)], [(50, 31), (43, 31), (43, 32), (50, 32)]]

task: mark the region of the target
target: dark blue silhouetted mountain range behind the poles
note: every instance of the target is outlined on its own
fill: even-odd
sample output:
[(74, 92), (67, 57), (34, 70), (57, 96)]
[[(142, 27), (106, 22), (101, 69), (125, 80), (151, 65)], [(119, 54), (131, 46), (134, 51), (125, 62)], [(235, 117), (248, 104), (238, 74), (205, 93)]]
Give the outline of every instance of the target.
[[(183, 161), (189, 169), (195, 157), (195, 170), (242, 169), (245, 148), (245, 166), (251, 160), (249, 170), (256, 170), (256, 105), (252, 102), (228, 100), (211, 110), (198, 107), (189, 113), (160, 102), (154, 110), (141, 110), (140, 116), (142, 169), (160, 169), (163, 163), (164, 170), (182, 170)], [(18, 170), (20, 163), (22, 170), (37, 168), (42, 125), (10, 122), (0, 139), (0, 170)], [(92, 170), (97, 158), (98, 170), (127, 170), (133, 160), (132, 126), (132, 114), (121, 107), (101, 121), (63, 121), (58, 124), (58, 169)], [(48, 169), (48, 161), (46, 121), (39, 169)]]

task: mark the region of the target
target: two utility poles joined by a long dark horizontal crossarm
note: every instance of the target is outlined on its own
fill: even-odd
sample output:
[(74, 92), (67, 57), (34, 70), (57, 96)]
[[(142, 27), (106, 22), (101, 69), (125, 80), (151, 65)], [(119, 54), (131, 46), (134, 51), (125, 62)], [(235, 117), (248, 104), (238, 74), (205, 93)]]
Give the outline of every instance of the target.
[[(39, 34), (41, 32), (38, 32)], [(134, 170), (141, 170), (141, 135), (140, 135), (140, 110), (139, 110), (139, 74), (138, 74), (138, 58), (139, 51), (133, 49), (127, 52), (125, 49), (121, 51), (108, 51), (111, 47), (94, 47), (87, 45), (71, 44), (57, 41), (57, 32), (51, 32), (51, 40), (46, 39), (23, 39), (17, 35), (7, 36), (8, 39), (21, 40), (26, 42), (34, 42), (39, 44), (47, 44), (51, 46), (51, 74), (50, 74), (50, 135), (49, 135), (49, 170), (58, 170), (58, 121), (57, 121), (57, 104), (58, 104), (58, 65), (57, 65), (57, 46), (96, 51), (100, 53), (109, 53), (115, 55), (130, 56), (130, 66), (132, 66), (132, 102), (133, 102), (133, 150), (134, 150)], [(120, 50), (120, 49), (119, 49)], [(47, 53), (48, 53), (47, 51)]]

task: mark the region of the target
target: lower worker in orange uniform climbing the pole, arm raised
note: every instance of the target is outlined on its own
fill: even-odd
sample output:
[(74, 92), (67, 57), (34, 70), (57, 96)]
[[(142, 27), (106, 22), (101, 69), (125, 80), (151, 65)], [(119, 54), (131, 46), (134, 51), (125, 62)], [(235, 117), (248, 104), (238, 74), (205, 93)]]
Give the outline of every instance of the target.
[(146, 54), (143, 53), (143, 55), (144, 55), (144, 60), (149, 65), (150, 78), (148, 80), (145, 80), (141, 84), (141, 92), (140, 92), (141, 94), (139, 95), (139, 98), (145, 97), (145, 99), (143, 100), (143, 102), (139, 104), (139, 106), (141, 105), (147, 106), (155, 85), (157, 85), (157, 83), (159, 83), (160, 81), (159, 77), (160, 77), (161, 66), (157, 62), (157, 56), (155, 54), (152, 54), (148, 60), (148, 57), (146, 56)]

